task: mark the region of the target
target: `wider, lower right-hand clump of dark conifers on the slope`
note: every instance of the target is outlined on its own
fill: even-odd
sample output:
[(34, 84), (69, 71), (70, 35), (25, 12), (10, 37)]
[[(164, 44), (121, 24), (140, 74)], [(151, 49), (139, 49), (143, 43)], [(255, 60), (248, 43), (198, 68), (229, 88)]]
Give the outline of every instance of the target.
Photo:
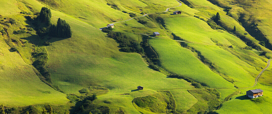
[(58, 18), (57, 25), (50, 26), (48, 35), (52, 37), (72, 37), (71, 27), (65, 20)]

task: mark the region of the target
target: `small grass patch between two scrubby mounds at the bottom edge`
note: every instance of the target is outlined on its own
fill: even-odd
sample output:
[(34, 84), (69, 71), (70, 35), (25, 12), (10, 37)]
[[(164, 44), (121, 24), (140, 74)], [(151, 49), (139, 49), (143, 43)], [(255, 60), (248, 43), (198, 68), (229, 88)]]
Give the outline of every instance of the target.
[(171, 93), (176, 100), (177, 111), (180, 113), (186, 113), (198, 101), (187, 90), (171, 90)]

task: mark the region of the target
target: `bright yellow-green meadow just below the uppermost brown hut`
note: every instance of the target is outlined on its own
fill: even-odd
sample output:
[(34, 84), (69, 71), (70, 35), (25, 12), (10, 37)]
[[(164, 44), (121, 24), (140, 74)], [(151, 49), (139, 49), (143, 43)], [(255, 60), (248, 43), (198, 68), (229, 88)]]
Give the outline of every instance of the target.
[[(222, 31), (218, 32), (212, 29), (208, 24), (195, 17), (173, 17), (164, 18), (165, 28), (172, 31), (172, 34), (179, 37), (179, 39), (206, 45), (238, 45), (245, 47), (242, 40), (233, 35)], [(181, 24), (176, 24), (181, 23)], [(214, 39), (216, 41), (212, 41)]]

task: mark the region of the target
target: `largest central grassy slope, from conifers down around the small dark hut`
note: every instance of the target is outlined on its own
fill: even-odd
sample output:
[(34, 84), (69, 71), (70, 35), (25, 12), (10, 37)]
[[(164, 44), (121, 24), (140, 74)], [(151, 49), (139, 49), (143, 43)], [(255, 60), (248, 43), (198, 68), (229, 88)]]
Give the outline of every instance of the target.
[[(40, 8), (35, 5), (37, 2), (26, 1)], [(57, 11), (52, 11), (52, 15), (52, 22), (62, 17), (73, 30), (71, 38), (53, 38), (51, 46), (47, 46), (52, 80), (67, 93), (79, 94), (78, 90), (89, 85), (107, 87), (109, 93), (98, 96), (95, 103), (110, 106), (112, 113), (119, 108), (127, 113), (139, 113), (131, 104), (135, 97), (146, 96), (154, 90), (193, 87), (184, 80), (166, 78), (166, 75), (150, 69), (137, 53), (120, 52), (115, 40), (97, 28)], [(139, 85), (144, 87), (143, 91), (131, 92)], [(120, 95), (123, 93), (131, 95), (124, 97)], [(104, 103), (104, 100), (111, 103)]]

